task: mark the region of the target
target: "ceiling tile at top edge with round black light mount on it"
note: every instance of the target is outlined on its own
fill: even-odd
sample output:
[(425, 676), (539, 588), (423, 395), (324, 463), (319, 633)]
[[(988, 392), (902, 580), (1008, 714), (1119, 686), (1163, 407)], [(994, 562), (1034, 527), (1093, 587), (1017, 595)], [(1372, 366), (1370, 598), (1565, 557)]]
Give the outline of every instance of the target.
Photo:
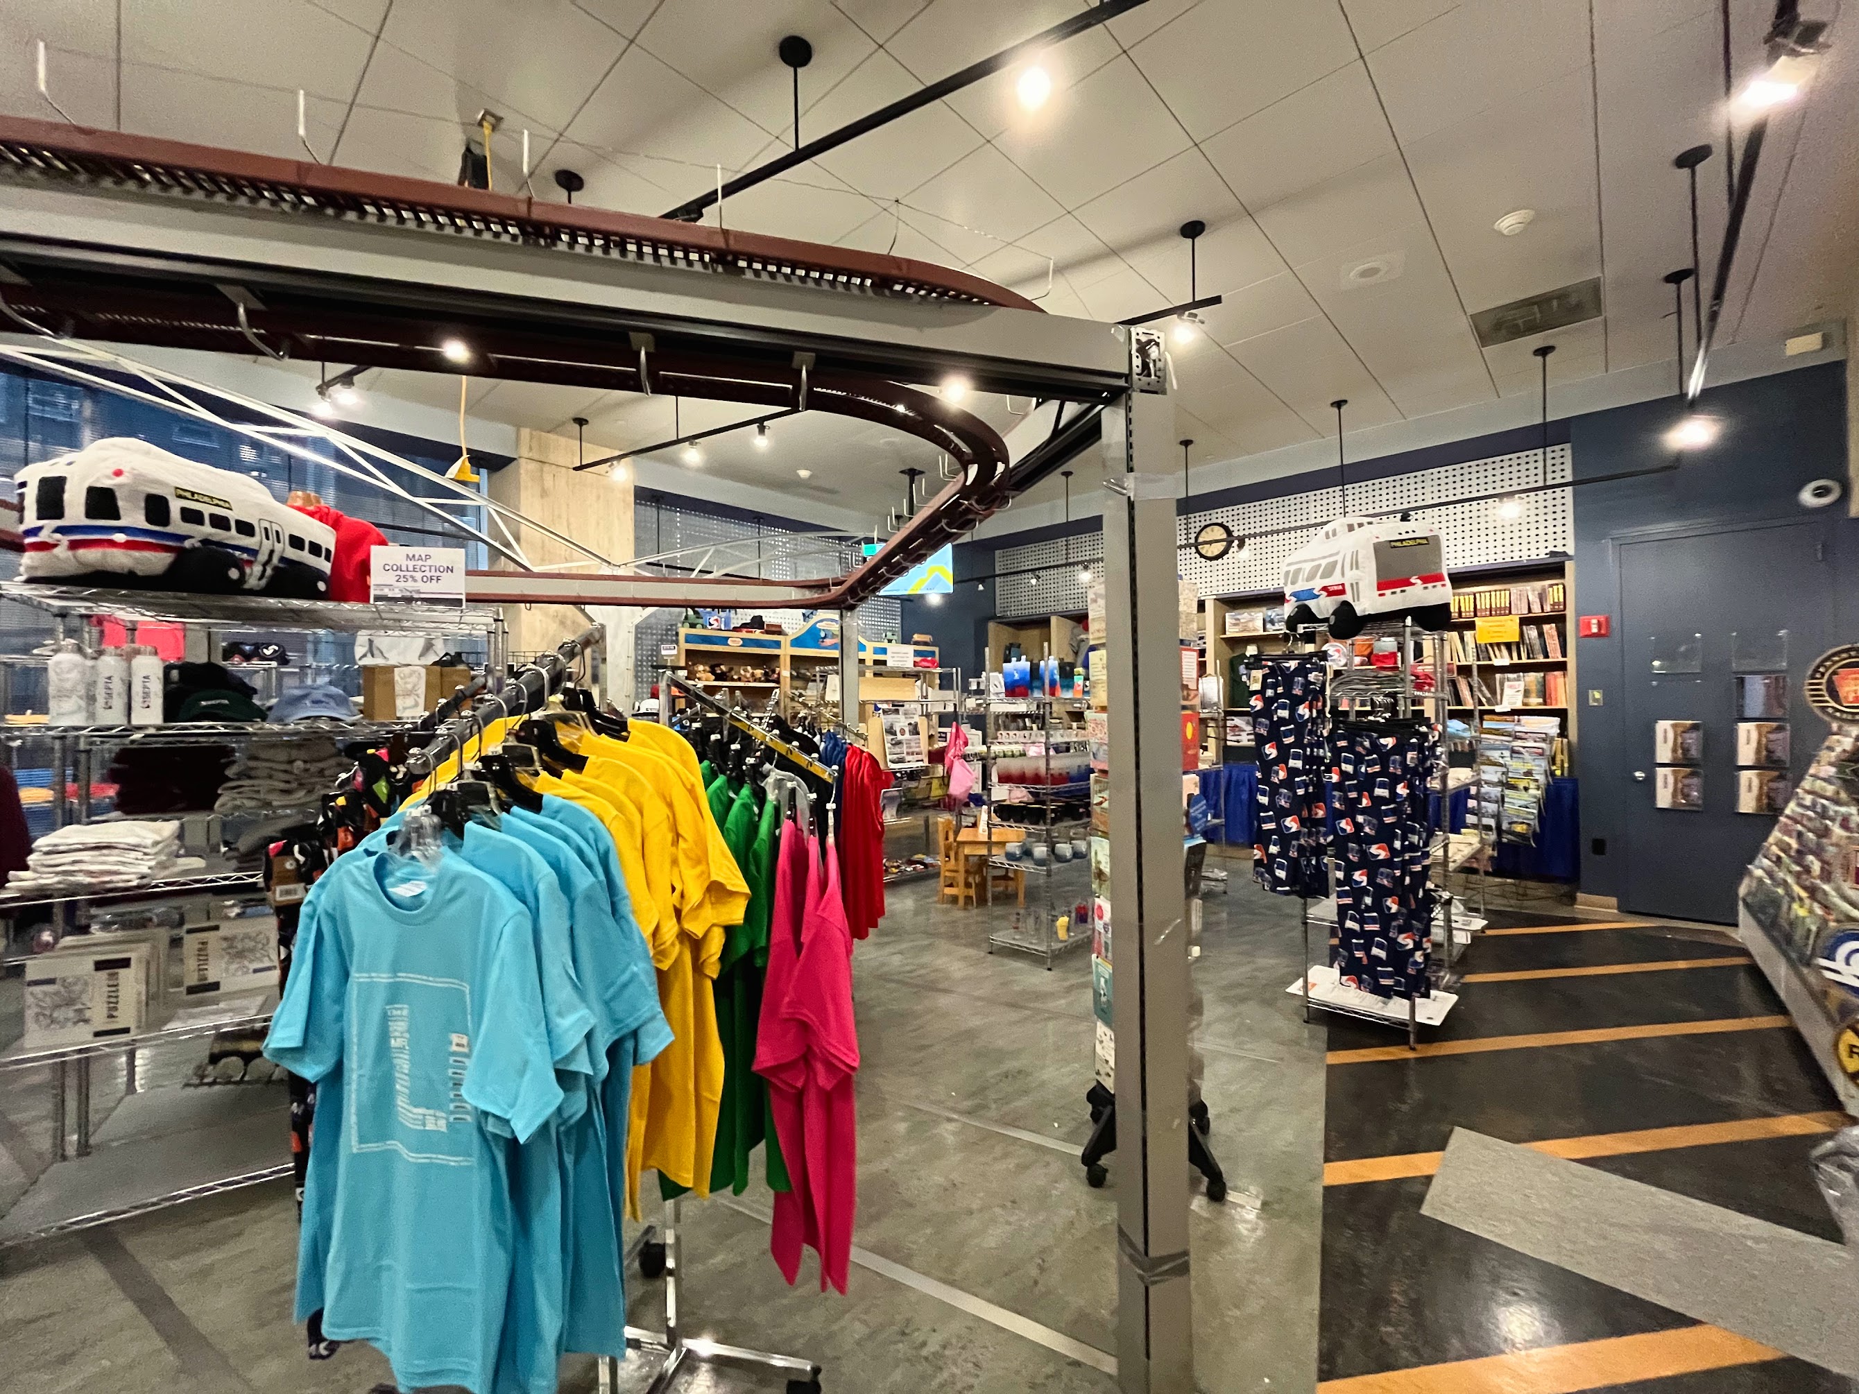
[[(638, 43), (764, 130), (794, 134), (794, 71), (775, 54), (788, 33), (812, 45), (801, 69), (801, 106), (825, 93), (876, 48), (864, 30), (818, 0), (677, 0), (660, 6)], [(801, 119), (801, 139), (809, 123)], [(820, 126), (824, 132), (825, 126)]]

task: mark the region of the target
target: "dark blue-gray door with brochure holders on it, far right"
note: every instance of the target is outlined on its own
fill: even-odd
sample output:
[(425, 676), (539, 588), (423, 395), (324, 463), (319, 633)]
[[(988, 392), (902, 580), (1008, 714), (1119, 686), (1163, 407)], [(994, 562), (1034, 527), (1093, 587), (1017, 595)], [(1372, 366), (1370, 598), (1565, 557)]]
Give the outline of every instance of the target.
[[(1788, 675), (1792, 775), (1826, 734), (1801, 682), (1827, 647), (1820, 522), (1619, 541), (1627, 729), (1627, 877), (1621, 909), (1734, 924), (1736, 883), (1775, 820), (1736, 812), (1736, 673)], [(1786, 632), (1785, 639), (1781, 632)], [(1703, 809), (1656, 807), (1655, 725), (1703, 723)]]

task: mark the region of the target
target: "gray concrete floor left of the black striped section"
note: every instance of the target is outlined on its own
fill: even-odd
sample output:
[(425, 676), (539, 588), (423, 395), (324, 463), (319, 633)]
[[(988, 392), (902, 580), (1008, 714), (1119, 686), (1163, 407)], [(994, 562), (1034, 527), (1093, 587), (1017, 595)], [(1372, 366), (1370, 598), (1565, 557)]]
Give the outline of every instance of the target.
[[(1231, 1186), (1195, 1184), (1197, 1383), (1206, 1394), (1316, 1387), (1324, 1149), (1324, 1026), (1286, 983), (1299, 970), (1296, 901), (1259, 892), (1231, 862), (1206, 900), (1201, 1046), (1210, 1147)], [(1063, 875), (1063, 874), (1061, 874)], [(1082, 898), (1058, 881), (1060, 898)], [(809, 1266), (788, 1288), (766, 1253), (766, 1193), (684, 1208), (690, 1335), (805, 1355), (827, 1390), (1115, 1388), (1115, 1184), (1084, 1184), (1089, 1132), (1089, 953), (1050, 972), (987, 953), (1006, 909), (935, 905), (894, 887), (859, 946), (859, 1227), (864, 1262), (846, 1297)], [(24, 1100), (0, 1097), (15, 1113)], [(99, 1110), (108, 1106), (99, 1102)], [(15, 1130), (19, 1136), (19, 1130)], [(6, 1136), (0, 1136), (0, 1143)], [(43, 1139), (39, 1139), (43, 1147)], [(283, 1158), (283, 1138), (279, 1156)], [(0, 1255), (0, 1370), (7, 1394), (366, 1390), (387, 1379), (366, 1348), (309, 1362), (290, 1325), (296, 1217), (288, 1186), (238, 1191)], [(660, 1284), (630, 1281), (632, 1320), (656, 1327)], [(656, 1366), (634, 1359), (623, 1388)], [(591, 1388), (587, 1361), (563, 1388)], [(783, 1388), (779, 1375), (701, 1368), (692, 1390)]]

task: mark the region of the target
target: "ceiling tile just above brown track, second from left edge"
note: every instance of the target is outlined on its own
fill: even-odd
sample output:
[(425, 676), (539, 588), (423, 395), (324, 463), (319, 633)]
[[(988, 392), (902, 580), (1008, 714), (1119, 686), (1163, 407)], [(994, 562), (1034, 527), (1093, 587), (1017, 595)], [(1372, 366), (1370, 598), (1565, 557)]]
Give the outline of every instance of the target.
[[(340, 121), (340, 102), (320, 97), (305, 102), (305, 128), (314, 149), (327, 151), (335, 145)], [(143, 63), (123, 65), (123, 128), (281, 160), (303, 158), (297, 143), (297, 93)], [(455, 147), (452, 171), (457, 171)], [(392, 173), (413, 171), (400, 167)]]

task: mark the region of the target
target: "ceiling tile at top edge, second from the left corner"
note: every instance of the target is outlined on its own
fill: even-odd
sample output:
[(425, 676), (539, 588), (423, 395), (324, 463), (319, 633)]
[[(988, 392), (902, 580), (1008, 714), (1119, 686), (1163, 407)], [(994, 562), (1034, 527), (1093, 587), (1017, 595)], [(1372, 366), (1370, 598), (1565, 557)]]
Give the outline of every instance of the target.
[(348, 102), (368, 45), (353, 24), (303, 0), (123, 0), (125, 61), (284, 89), (292, 132), (296, 89)]

